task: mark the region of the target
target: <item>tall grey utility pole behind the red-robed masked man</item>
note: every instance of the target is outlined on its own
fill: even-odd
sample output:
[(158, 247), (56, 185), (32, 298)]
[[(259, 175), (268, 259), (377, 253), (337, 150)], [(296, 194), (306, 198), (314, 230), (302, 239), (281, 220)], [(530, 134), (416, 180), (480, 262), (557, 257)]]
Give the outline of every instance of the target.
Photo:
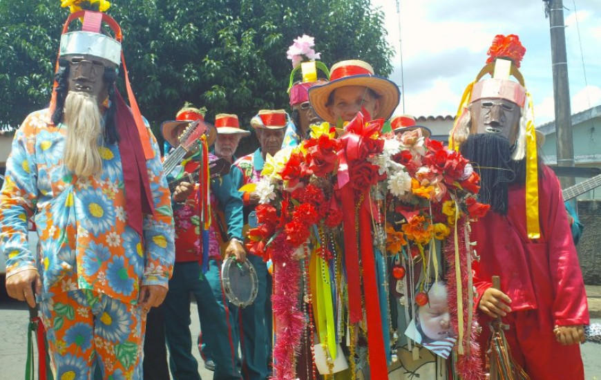
[[(562, 0), (543, 0), (549, 18), (551, 32), (551, 62), (553, 64), (553, 98), (555, 99), (555, 134), (557, 136), (557, 166), (574, 166), (574, 142), (570, 88), (568, 83), (568, 59), (566, 54), (566, 32), (564, 5)], [(562, 188), (575, 184), (575, 178), (562, 177)]]

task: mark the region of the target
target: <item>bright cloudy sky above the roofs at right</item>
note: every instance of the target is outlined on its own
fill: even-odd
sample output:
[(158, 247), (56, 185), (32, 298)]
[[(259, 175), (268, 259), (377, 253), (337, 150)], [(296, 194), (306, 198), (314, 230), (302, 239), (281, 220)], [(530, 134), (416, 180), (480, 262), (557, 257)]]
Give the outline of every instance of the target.
[[(486, 51), (495, 35), (515, 34), (526, 48), (519, 70), (533, 97), (535, 124), (555, 119), (544, 1), (399, 0), (400, 17), (396, 0), (371, 1), (385, 12), (387, 38), (397, 52), (390, 79), (399, 86), (400, 19), (405, 110), (401, 104), (395, 114), (455, 116), (464, 89), (486, 63)], [(574, 114), (601, 104), (601, 1), (564, 0), (564, 8)]]

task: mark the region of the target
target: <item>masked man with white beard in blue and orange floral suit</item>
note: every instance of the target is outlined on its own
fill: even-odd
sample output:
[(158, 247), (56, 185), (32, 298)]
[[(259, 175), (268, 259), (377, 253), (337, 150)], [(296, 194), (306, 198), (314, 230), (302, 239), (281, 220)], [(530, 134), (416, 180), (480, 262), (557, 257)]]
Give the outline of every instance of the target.
[(171, 199), (155, 138), (115, 86), (121, 30), (89, 10), (64, 30), (80, 17), (83, 31), (61, 36), (50, 108), (12, 143), (0, 195), (6, 288), (31, 307), (37, 295), (55, 379), (89, 379), (95, 363), (104, 379), (142, 379), (146, 312), (173, 267)]

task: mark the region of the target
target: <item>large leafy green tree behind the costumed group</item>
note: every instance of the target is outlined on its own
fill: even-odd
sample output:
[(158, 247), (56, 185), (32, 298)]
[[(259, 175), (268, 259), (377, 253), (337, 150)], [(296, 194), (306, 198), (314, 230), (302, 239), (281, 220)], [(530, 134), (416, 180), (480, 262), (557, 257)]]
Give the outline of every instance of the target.
[[(18, 124), (50, 99), (61, 24), (59, 0), (0, 2), (0, 124)], [(286, 50), (312, 35), (327, 66), (342, 59), (392, 71), (383, 13), (370, 0), (115, 0), (108, 14), (140, 109), (158, 126), (184, 104), (237, 113), (287, 108)], [(248, 139), (247, 139), (248, 140)]]

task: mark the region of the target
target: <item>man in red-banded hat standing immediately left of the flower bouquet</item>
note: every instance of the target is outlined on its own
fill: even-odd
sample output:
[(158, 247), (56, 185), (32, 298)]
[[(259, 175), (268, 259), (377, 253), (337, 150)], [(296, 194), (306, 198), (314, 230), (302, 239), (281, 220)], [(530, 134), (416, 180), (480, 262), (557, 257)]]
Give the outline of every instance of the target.
[[(260, 143), (254, 153), (245, 155), (234, 162), (231, 168), (231, 182), (234, 188), (240, 189), (245, 184), (256, 183), (261, 178), (267, 153), (275, 155), (280, 151), (289, 116), (284, 110), (261, 110), (252, 118), (251, 126), (255, 129)], [(255, 207), (259, 197), (256, 193), (244, 193), (242, 196), (245, 209), (245, 224), (256, 227)], [(258, 278), (258, 293), (254, 303), (240, 313), (240, 343), (242, 345), (242, 374), (248, 380), (267, 379), (267, 347), (271, 346), (267, 329), (265, 303), (271, 298), (271, 287), (267, 286), (267, 265), (262, 257), (249, 254), (247, 259), (255, 267)]]

